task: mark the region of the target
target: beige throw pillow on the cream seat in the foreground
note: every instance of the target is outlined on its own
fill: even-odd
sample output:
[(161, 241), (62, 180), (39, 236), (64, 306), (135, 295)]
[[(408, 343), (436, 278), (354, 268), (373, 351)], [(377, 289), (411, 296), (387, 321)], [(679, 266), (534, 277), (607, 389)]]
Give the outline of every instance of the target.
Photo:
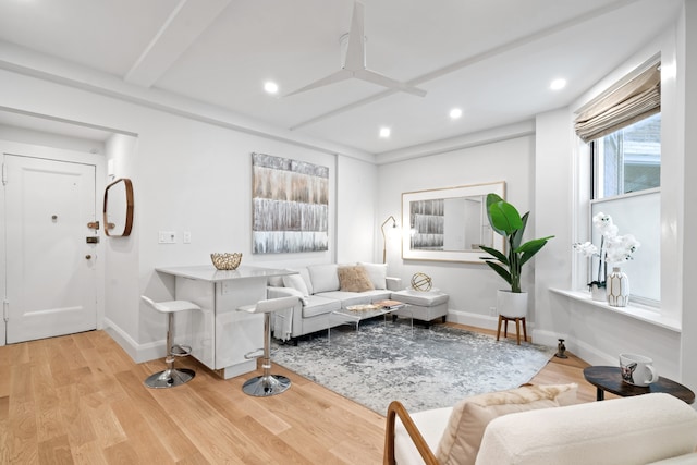
[(489, 421), (515, 412), (557, 407), (560, 405), (557, 397), (563, 396), (567, 391), (575, 394), (577, 384), (558, 386), (554, 389), (524, 386), (460, 401), (453, 407), (438, 444), (438, 462), (443, 465), (474, 465)]

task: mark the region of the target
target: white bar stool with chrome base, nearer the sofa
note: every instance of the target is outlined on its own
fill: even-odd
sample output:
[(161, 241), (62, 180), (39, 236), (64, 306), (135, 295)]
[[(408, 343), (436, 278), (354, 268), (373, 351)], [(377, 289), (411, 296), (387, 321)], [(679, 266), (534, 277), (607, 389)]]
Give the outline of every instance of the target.
[[(245, 305), (237, 308), (239, 311), (249, 314), (264, 314), (264, 354), (261, 355), (262, 375), (252, 378), (242, 387), (245, 394), (257, 397), (267, 397), (284, 392), (291, 387), (291, 380), (282, 375), (271, 375), (271, 314), (299, 305), (301, 299), (295, 296), (270, 298), (259, 301), (256, 305)], [(258, 351), (255, 351), (256, 353)], [(246, 358), (256, 358), (249, 353)]]

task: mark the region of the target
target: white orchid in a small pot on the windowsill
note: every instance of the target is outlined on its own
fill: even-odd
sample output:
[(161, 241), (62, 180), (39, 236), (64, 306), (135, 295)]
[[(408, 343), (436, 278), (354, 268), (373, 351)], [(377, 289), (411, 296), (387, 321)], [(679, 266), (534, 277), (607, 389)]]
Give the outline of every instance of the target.
[(573, 246), (584, 257), (598, 257), (598, 279), (588, 283), (598, 287), (606, 286), (608, 264), (619, 264), (631, 260), (632, 255), (641, 245), (632, 234), (619, 235), (619, 228), (612, 222), (612, 217), (603, 212), (592, 217), (592, 224), (600, 233), (600, 247), (590, 242), (575, 243)]

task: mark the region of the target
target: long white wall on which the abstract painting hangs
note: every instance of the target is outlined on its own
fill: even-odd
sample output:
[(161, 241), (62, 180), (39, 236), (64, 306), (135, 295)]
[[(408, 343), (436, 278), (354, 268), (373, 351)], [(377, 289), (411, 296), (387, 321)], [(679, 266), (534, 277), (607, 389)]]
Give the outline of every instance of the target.
[[(166, 334), (164, 320), (142, 306), (139, 295), (173, 297), (173, 282), (158, 276), (155, 267), (210, 264), (211, 252), (242, 252), (243, 265), (273, 267), (374, 256), (377, 168), (372, 163), (8, 71), (0, 71), (0, 81), (3, 107), (137, 134), (137, 142), (114, 137), (108, 143), (115, 174), (133, 180), (135, 220), (132, 236), (107, 240), (106, 280), (106, 321), (136, 360), (152, 356), (154, 343)], [(330, 168), (328, 252), (252, 254), (253, 151)], [(106, 181), (105, 175), (101, 185)], [(178, 243), (158, 244), (161, 230), (175, 231)], [(183, 231), (191, 231), (191, 244), (182, 244)], [(341, 248), (338, 236), (348, 240)]]

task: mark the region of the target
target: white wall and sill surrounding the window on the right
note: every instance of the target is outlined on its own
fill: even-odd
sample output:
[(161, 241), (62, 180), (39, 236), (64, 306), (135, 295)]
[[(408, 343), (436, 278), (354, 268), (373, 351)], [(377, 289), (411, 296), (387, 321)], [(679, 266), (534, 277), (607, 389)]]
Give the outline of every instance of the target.
[[(695, 27), (695, 25), (693, 25)], [(616, 365), (622, 352), (638, 352), (651, 356), (661, 375), (681, 380), (695, 389), (697, 367), (686, 363), (685, 342), (697, 329), (690, 321), (687, 309), (683, 311), (684, 279), (681, 265), (688, 253), (682, 244), (682, 217), (686, 223), (689, 212), (683, 210), (687, 193), (683, 176), (688, 174), (688, 164), (682, 144), (682, 127), (685, 126), (681, 110), (681, 87), (687, 82), (681, 75), (685, 57), (676, 53), (680, 28), (671, 27), (651, 44), (643, 47), (615, 72), (607, 76), (587, 95), (568, 109), (539, 115), (536, 127), (537, 157), (537, 212), (538, 227), (558, 228), (550, 250), (536, 258), (536, 293), (538, 305), (534, 338), (552, 345), (557, 338), (566, 339), (568, 350), (591, 364)], [(589, 191), (585, 183), (588, 176), (589, 154), (574, 135), (570, 134), (573, 111), (619, 81), (633, 69), (657, 52), (662, 60), (662, 164), (661, 164), (661, 313), (670, 319), (682, 320), (681, 331), (665, 329), (627, 315), (592, 306), (550, 292), (550, 289), (582, 290), (578, 279), (571, 270), (578, 260), (571, 244), (583, 240), (587, 228)], [(678, 59), (676, 63), (676, 57)], [(676, 75), (671, 70), (677, 69)], [(688, 106), (689, 107), (689, 106)], [(683, 174), (685, 172), (685, 174)], [(564, 187), (568, 186), (568, 187)], [(694, 212), (692, 213), (694, 217)], [(694, 219), (693, 219), (694, 221)], [(545, 227), (542, 225), (545, 224)], [(640, 253), (640, 252), (639, 252)], [(685, 264), (687, 264), (685, 257)], [(677, 265), (677, 266), (676, 266)], [(686, 285), (689, 287), (689, 285)], [(688, 301), (685, 301), (688, 302)], [(693, 347), (694, 348), (694, 347)], [(693, 364), (694, 365), (694, 364)]]

